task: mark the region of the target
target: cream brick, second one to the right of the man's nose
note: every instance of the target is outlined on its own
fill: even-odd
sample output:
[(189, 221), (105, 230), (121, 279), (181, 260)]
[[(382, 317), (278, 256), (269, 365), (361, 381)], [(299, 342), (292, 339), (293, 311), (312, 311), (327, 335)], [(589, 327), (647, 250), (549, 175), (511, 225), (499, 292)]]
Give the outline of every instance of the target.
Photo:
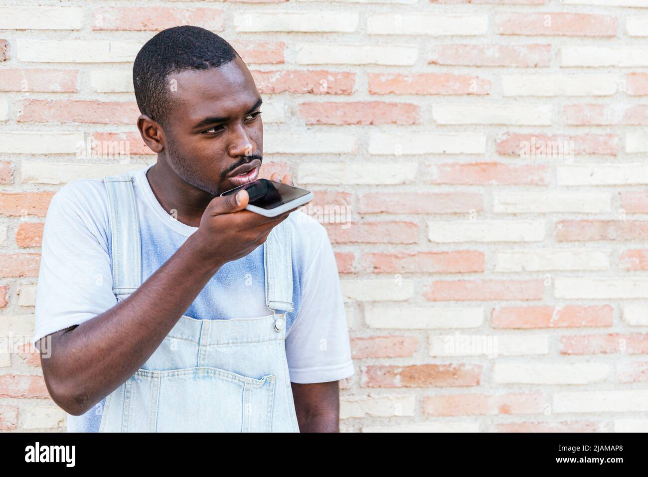
[(369, 154), (483, 154), (486, 136), (481, 133), (372, 133)]

